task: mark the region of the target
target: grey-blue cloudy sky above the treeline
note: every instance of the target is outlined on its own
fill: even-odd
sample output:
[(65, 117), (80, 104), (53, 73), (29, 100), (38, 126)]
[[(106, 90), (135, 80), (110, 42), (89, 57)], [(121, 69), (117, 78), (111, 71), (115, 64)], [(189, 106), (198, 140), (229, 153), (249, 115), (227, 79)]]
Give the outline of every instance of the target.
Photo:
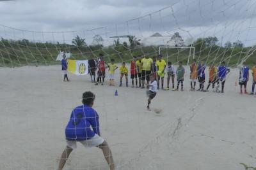
[(178, 31), (188, 41), (216, 36), (220, 43), (239, 39), (255, 45), (255, 12), (255, 0), (0, 1), (0, 36), (68, 43), (76, 35), (90, 42), (96, 34), (108, 41)]

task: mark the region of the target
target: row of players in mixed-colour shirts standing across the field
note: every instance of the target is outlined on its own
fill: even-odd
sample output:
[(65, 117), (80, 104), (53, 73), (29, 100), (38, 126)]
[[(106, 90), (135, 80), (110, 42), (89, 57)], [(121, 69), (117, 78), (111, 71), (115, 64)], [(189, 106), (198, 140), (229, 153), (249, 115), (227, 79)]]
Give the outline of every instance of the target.
[[(65, 57), (63, 56), (65, 60)], [(115, 80), (115, 70), (118, 69), (118, 66), (115, 64), (115, 60), (111, 59), (111, 63), (106, 64), (104, 61), (104, 56), (102, 54), (99, 55), (99, 60), (91, 59), (88, 60), (89, 63), (89, 73), (91, 76), (92, 82), (95, 82), (95, 85), (99, 85), (101, 83), (103, 85), (104, 79), (106, 76), (106, 68), (109, 69), (109, 85), (114, 85)], [(63, 66), (64, 65), (64, 66)], [(62, 62), (62, 69), (64, 67), (65, 74), (64, 74), (64, 81), (67, 78), (67, 64)], [(204, 89), (205, 83), (205, 63), (201, 61), (198, 66), (196, 65), (196, 61), (193, 60), (193, 63), (190, 66), (190, 85), (191, 91), (195, 91), (196, 88), (196, 81), (199, 82), (199, 88), (197, 91), (206, 92), (209, 90), (209, 87), (212, 85), (212, 89), (214, 92), (224, 92), (225, 80), (227, 74), (230, 72), (230, 69), (225, 66), (225, 62), (221, 62), (219, 67), (214, 66), (214, 63), (210, 64), (209, 67), (209, 83), (207, 85), (206, 90)], [(247, 94), (246, 85), (249, 80), (249, 71), (250, 69), (247, 66), (241, 67), (239, 71), (239, 85), (241, 94), (243, 94), (243, 87), (244, 93)], [(95, 74), (97, 72), (97, 81), (95, 81)], [(167, 74), (167, 86), (164, 89), (164, 75)], [(182, 66), (182, 62), (179, 62), (179, 66), (177, 67), (176, 71), (172, 62), (168, 62), (166, 64), (165, 60), (162, 59), (162, 55), (158, 55), (157, 57), (153, 57), (151, 59), (148, 55), (145, 57), (134, 57), (131, 61), (131, 81), (132, 87), (139, 87), (141, 89), (145, 88), (145, 80), (147, 80), (147, 84), (150, 81), (150, 74), (154, 75), (155, 79), (157, 80), (157, 89), (160, 86), (161, 80), (161, 89), (169, 90), (170, 87), (170, 80), (172, 80), (172, 90), (179, 90), (179, 85), (181, 85), (181, 90), (183, 90), (183, 81), (184, 81), (184, 74), (185, 69)], [(175, 89), (175, 75), (177, 76), (177, 88)], [(125, 76), (125, 83), (126, 87), (128, 87), (128, 69), (125, 66), (125, 62), (122, 63), (120, 66), (120, 87), (122, 86), (122, 80)], [(256, 66), (252, 67), (252, 77), (253, 77), (253, 84), (252, 84), (252, 92), (250, 94), (254, 94), (254, 87), (256, 85)], [(134, 85), (135, 79), (135, 85)], [(68, 78), (67, 78), (67, 81)], [(216, 87), (215, 84), (217, 83)], [(220, 83), (221, 83), (221, 90), (220, 90)]]

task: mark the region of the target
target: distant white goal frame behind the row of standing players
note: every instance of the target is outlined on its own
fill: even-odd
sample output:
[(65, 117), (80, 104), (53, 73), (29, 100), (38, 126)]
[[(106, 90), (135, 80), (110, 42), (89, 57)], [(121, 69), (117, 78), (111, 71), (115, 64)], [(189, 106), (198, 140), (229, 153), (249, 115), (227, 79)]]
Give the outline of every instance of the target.
[(166, 48), (166, 56), (167, 56), (167, 62), (168, 62), (168, 58), (169, 58), (169, 54), (168, 53), (168, 48), (175, 48), (178, 50), (177, 52), (177, 61), (179, 60), (179, 50), (185, 50), (185, 49), (189, 49), (189, 53), (188, 53), (188, 62), (187, 65), (189, 65), (189, 59), (192, 56), (193, 59), (195, 59), (195, 47), (194, 46), (159, 46), (159, 51), (158, 54), (161, 54), (161, 52), (163, 51), (163, 48)]

